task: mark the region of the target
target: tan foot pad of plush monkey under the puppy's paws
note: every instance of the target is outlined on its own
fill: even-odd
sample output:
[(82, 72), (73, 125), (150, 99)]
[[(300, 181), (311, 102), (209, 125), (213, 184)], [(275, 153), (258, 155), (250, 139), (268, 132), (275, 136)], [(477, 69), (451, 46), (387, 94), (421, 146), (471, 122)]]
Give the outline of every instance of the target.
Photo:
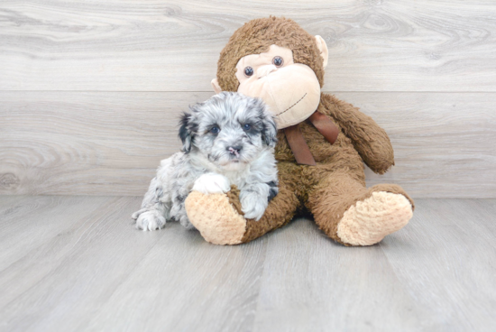
[(185, 208), (189, 221), (211, 244), (241, 244), (246, 220), (234, 210), (225, 194), (191, 191)]

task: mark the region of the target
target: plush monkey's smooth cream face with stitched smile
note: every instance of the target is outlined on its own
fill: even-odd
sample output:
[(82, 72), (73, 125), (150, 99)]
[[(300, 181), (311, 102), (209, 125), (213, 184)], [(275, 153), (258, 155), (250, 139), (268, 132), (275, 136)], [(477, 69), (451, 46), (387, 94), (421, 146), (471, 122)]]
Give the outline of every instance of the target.
[(262, 98), (278, 128), (299, 124), (317, 110), (317, 76), (307, 65), (295, 63), (287, 48), (271, 45), (267, 52), (244, 56), (236, 65), (236, 78), (238, 92)]

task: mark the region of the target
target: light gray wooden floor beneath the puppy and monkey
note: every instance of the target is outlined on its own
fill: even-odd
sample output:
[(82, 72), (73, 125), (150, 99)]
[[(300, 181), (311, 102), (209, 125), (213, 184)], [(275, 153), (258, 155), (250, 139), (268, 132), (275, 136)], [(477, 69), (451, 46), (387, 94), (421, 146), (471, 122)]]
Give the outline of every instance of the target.
[(496, 199), (418, 199), (372, 247), (298, 219), (216, 246), (141, 198), (0, 197), (2, 331), (494, 331)]

